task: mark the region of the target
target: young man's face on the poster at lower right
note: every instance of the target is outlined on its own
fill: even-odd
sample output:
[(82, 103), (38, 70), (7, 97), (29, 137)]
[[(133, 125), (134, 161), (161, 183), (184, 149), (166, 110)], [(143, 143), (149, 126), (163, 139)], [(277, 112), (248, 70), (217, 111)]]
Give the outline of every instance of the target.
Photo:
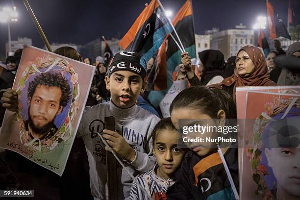
[[(276, 122), (274, 134), (268, 138), (265, 148), (268, 165), (277, 181), (277, 191), (300, 197), (300, 132), (296, 124), (299, 118)], [(278, 131), (276, 131), (278, 130)]]

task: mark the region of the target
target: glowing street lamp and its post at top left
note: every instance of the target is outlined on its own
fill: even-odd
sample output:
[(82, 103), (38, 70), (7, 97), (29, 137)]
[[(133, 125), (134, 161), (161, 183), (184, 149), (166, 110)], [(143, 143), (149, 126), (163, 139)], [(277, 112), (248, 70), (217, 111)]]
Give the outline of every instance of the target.
[(0, 22), (7, 23), (7, 29), (8, 29), (8, 55), (10, 55), (11, 51), (11, 38), (10, 38), (10, 23), (11, 22), (18, 22), (18, 13), (16, 10), (16, 7), (13, 6), (10, 7), (3, 7), (2, 10), (0, 10)]

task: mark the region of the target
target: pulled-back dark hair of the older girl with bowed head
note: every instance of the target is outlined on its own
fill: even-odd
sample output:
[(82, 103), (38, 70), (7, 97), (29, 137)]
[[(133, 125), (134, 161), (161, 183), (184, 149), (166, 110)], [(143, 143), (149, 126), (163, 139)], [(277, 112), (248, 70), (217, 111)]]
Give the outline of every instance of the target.
[(192, 86), (181, 91), (170, 106), (170, 113), (178, 108), (200, 109), (212, 119), (217, 119), (219, 110), (224, 110), (226, 119), (236, 119), (236, 105), (225, 91), (207, 86)]

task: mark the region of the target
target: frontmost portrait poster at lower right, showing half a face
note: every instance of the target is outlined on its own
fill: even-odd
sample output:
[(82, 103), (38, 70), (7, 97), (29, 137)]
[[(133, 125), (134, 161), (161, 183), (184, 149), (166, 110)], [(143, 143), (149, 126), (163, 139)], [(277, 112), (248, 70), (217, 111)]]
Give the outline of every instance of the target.
[(245, 117), (241, 199), (300, 199), (298, 91), (248, 91)]

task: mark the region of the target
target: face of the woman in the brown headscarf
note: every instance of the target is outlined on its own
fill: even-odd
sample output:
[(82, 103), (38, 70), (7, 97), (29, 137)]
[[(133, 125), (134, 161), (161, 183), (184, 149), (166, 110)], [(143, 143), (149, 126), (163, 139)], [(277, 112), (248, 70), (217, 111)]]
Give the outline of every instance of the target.
[(254, 64), (245, 50), (236, 56), (236, 71), (241, 77), (248, 77), (254, 72)]

